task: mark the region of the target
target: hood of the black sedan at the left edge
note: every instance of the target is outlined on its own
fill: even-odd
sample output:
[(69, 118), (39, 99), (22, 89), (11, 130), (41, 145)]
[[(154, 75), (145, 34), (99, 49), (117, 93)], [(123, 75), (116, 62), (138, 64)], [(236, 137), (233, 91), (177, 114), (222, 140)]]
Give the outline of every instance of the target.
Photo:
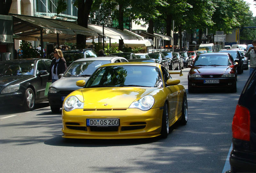
[(33, 78), (32, 75), (23, 75), (23, 76), (1, 76), (0, 77), (0, 87), (21, 83), (23, 81)]

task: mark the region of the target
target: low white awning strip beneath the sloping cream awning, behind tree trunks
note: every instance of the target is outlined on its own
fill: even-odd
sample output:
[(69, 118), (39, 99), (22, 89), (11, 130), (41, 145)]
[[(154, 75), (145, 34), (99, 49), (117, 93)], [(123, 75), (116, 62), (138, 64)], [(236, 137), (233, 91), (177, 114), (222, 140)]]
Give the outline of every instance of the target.
[[(86, 40), (86, 44), (92, 44), (93, 40), (89, 39)], [(98, 39), (94, 39), (94, 42), (98, 42)], [(109, 43), (109, 38), (105, 38), (105, 44)], [(118, 39), (111, 39), (111, 44), (119, 44)], [(140, 47), (140, 46), (151, 46), (152, 44), (155, 44), (153, 40), (151, 39), (145, 39), (145, 40), (124, 40), (124, 44), (127, 45), (128, 47)]]

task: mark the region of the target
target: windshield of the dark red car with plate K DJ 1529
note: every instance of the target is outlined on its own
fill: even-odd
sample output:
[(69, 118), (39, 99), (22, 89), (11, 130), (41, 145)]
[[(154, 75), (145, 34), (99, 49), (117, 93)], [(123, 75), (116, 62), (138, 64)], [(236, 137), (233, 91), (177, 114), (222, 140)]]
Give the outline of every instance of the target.
[(231, 62), (227, 55), (199, 55), (194, 66), (230, 66)]

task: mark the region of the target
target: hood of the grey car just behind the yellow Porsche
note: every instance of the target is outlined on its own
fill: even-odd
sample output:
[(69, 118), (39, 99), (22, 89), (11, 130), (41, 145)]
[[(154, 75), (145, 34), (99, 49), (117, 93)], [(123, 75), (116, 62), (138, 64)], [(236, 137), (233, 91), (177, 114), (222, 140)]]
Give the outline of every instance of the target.
[(51, 87), (56, 88), (58, 91), (74, 91), (77, 89), (81, 89), (81, 87), (76, 86), (76, 81), (85, 80), (86, 82), (88, 79), (89, 77), (62, 77), (56, 80), (56, 82), (53, 82)]

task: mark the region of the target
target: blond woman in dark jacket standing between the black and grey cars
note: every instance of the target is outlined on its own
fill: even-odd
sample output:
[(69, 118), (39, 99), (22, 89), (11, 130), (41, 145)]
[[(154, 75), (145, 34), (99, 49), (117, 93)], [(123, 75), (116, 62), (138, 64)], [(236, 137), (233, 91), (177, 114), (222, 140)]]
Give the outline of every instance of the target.
[(60, 49), (54, 49), (54, 58), (50, 65), (50, 74), (48, 80), (52, 83), (58, 80), (58, 75), (62, 74), (67, 69), (66, 60), (63, 57), (63, 53)]

